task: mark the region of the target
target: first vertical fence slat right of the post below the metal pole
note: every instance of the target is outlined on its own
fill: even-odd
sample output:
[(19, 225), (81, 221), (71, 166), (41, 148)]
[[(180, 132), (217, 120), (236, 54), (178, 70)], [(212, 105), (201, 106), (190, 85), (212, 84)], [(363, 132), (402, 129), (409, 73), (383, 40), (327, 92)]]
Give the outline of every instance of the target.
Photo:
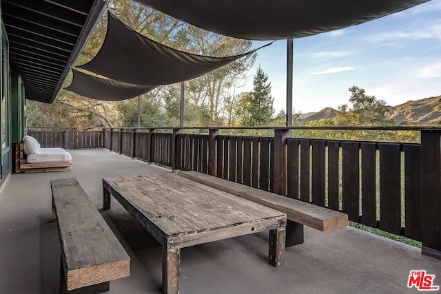
[(300, 141), (287, 138), (287, 192), (289, 198), (298, 199), (298, 151)]

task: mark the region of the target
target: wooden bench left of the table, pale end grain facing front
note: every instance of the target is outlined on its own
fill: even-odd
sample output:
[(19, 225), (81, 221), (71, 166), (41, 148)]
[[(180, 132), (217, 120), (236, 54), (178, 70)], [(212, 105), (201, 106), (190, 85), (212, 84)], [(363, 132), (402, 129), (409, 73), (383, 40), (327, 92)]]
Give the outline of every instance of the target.
[(129, 255), (76, 178), (50, 184), (61, 244), (60, 292), (109, 291), (110, 280), (130, 275)]

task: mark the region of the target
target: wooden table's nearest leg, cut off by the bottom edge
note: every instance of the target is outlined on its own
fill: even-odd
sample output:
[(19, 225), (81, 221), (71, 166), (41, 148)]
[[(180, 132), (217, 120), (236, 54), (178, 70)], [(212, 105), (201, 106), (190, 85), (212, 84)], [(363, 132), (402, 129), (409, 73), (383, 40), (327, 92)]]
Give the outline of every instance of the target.
[(181, 249), (163, 247), (163, 293), (179, 293), (179, 275), (181, 271)]

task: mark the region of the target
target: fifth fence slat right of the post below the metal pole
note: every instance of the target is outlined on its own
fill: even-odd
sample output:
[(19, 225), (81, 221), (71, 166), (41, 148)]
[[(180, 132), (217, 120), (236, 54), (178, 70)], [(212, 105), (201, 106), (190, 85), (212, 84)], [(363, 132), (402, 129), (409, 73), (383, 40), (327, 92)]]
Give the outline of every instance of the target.
[(342, 143), (342, 210), (349, 220), (358, 222), (360, 216), (360, 160), (358, 142)]

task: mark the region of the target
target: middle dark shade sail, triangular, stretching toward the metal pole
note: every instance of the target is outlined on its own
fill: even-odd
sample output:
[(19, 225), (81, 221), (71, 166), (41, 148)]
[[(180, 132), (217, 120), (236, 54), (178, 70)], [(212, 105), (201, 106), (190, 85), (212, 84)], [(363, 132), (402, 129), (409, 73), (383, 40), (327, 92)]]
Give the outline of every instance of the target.
[(110, 12), (108, 16), (107, 35), (101, 49), (94, 59), (79, 68), (125, 83), (168, 85), (187, 81), (260, 49), (227, 57), (190, 54), (148, 39)]

